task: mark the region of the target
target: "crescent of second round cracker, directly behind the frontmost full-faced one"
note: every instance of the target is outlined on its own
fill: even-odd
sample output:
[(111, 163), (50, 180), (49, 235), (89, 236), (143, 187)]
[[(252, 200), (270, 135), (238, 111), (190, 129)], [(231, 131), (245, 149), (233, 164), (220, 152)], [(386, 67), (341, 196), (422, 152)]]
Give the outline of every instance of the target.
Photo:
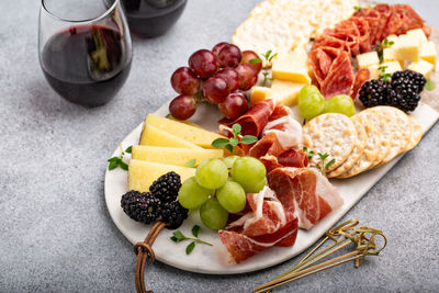
[(326, 174), (328, 178), (337, 177), (348, 171), (363, 154), (364, 146), (368, 140), (368, 134), (365, 133), (364, 126), (359, 117), (352, 117), (351, 121), (356, 125), (357, 144), (346, 161), (340, 167)]

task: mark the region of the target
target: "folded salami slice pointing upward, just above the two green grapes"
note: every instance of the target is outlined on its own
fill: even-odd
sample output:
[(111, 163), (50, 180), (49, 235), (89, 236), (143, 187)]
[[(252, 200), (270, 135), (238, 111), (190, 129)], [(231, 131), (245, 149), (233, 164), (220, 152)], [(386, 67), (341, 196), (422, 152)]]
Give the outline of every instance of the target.
[(320, 92), (329, 99), (336, 94), (349, 94), (353, 83), (353, 71), (348, 53), (341, 52), (330, 66), (328, 76), (320, 84)]

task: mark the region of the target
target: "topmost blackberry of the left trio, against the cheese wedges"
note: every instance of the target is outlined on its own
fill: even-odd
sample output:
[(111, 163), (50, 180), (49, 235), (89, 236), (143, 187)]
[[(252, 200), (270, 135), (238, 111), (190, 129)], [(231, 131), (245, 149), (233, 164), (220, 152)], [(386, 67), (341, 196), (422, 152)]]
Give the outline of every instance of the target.
[(162, 203), (167, 203), (177, 200), (180, 188), (180, 176), (172, 171), (160, 176), (156, 181), (154, 181), (149, 187), (149, 191)]

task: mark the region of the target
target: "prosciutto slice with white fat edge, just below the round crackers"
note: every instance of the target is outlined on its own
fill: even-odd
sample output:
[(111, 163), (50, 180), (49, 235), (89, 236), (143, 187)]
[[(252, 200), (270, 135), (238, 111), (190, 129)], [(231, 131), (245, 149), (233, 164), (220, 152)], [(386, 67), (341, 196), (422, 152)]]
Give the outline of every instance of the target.
[(282, 205), (297, 216), (300, 228), (309, 229), (344, 203), (336, 188), (314, 168), (278, 168), (267, 179)]

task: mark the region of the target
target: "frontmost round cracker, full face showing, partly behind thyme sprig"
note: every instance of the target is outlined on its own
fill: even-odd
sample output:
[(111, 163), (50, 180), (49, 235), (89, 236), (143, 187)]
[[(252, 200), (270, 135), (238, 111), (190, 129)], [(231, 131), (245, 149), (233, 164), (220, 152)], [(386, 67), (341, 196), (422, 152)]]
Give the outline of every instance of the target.
[[(315, 154), (328, 154), (326, 162), (335, 162), (326, 170), (330, 172), (341, 166), (357, 144), (357, 131), (353, 122), (342, 114), (322, 114), (303, 126), (304, 145)], [(313, 164), (319, 165), (318, 156)]]

